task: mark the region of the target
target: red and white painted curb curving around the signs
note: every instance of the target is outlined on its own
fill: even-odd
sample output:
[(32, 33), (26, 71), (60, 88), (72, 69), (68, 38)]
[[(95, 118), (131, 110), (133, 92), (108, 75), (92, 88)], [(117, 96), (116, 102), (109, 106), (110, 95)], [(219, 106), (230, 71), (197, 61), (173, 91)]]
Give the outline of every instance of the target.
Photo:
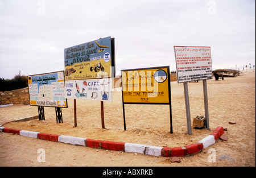
[[(1, 125), (2, 126), (2, 125)], [(80, 138), (75, 136), (67, 135), (56, 135), (47, 133), (38, 133), (35, 131), (26, 131), (18, 129), (10, 129), (6, 127), (0, 127), (0, 132), (13, 133), (22, 136), (28, 136), (31, 138), (39, 138), (49, 140), (53, 142), (69, 143), (73, 145), (81, 145), (91, 148), (102, 148), (105, 150), (115, 150), (124, 152), (135, 152), (139, 154), (152, 155), (152, 156), (186, 156), (193, 155), (201, 152), (203, 149), (216, 143), (217, 139), (224, 134), (224, 129), (218, 126), (212, 134), (200, 140), (197, 143), (189, 144), (184, 147), (156, 147), (147, 146), (146, 144), (135, 144), (135, 143), (123, 143), (123, 142), (110, 142), (105, 140), (94, 140), (88, 138)]]

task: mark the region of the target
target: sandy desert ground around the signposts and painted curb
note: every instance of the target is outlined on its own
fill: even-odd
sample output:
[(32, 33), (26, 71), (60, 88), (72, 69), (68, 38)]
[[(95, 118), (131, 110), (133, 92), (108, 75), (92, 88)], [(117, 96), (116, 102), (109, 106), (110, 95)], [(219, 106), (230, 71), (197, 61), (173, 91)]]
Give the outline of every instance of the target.
[[(209, 125), (192, 129), (187, 134), (183, 84), (171, 82), (172, 125), (167, 105), (125, 105), (126, 131), (123, 130), (122, 95), (113, 92), (113, 102), (104, 102), (105, 129), (101, 128), (100, 101), (77, 100), (77, 127), (74, 127), (73, 100), (62, 109), (63, 123), (56, 123), (55, 109), (44, 107), (45, 121), (11, 122), (3, 127), (41, 133), (79, 136), (117, 142), (177, 147), (196, 143), (210, 135), (217, 126), (227, 127), (229, 140), (215, 144), (193, 156), (184, 156), (181, 163), (170, 158), (106, 151), (20, 135), (0, 134), (0, 166), (210, 166), (255, 167), (255, 72), (243, 72), (236, 78), (207, 81)], [(188, 83), (191, 124), (197, 115), (204, 115), (203, 82)], [(0, 107), (0, 123), (38, 115), (38, 108), (29, 105)], [(229, 121), (237, 122), (230, 125)], [(46, 162), (38, 162), (38, 149), (46, 151)], [(214, 149), (214, 150), (211, 150)], [(209, 162), (216, 154), (216, 161)]]

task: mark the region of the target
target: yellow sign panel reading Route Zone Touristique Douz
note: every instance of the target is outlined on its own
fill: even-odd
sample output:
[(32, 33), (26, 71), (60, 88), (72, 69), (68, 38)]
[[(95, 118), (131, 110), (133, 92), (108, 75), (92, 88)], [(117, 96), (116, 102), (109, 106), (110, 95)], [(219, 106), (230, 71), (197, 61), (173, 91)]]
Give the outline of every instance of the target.
[(122, 70), (124, 104), (169, 104), (169, 67)]

